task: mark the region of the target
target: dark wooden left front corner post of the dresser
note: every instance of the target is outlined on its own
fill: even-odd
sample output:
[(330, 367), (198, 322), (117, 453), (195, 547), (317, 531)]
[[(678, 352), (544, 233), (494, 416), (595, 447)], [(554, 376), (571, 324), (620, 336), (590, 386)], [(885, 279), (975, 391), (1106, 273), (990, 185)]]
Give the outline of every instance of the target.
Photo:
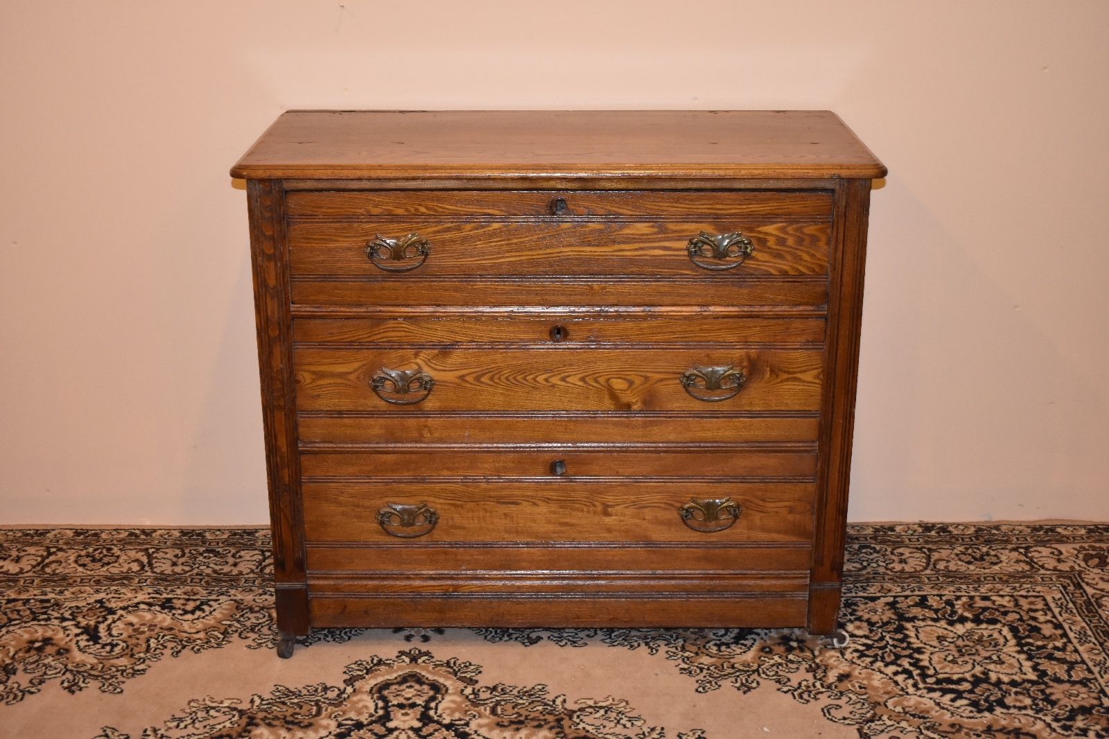
[(304, 516), (299, 498), (292, 318), (281, 183), (248, 181), (247, 202), (277, 625), (283, 634), (307, 634)]

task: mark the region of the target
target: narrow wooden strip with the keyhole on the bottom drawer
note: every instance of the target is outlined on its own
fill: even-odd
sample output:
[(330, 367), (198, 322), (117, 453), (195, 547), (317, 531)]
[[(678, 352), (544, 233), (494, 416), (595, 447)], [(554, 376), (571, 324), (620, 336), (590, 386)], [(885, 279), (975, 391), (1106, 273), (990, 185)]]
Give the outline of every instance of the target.
[(301, 456), (304, 479), (316, 477), (803, 477), (816, 475), (815, 451), (720, 452), (376, 452)]

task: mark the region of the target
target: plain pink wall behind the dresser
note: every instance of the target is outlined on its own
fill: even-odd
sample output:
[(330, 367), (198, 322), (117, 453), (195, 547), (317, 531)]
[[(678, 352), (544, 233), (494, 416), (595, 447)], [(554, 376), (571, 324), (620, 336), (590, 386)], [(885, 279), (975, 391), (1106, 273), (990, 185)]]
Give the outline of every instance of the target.
[(0, 520), (266, 519), (287, 108), (826, 108), (874, 193), (851, 518), (1109, 518), (1109, 3), (7, 2)]

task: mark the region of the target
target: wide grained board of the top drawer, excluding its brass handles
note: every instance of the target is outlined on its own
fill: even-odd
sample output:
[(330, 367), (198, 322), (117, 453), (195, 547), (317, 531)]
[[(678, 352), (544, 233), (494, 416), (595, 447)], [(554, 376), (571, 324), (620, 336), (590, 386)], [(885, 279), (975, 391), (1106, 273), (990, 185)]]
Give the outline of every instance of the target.
[[(721, 272), (694, 264), (690, 240), (742, 233), (753, 252)], [(429, 256), (394, 280), (454, 275), (690, 275), (741, 280), (746, 275), (823, 275), (827, 273), (828, 224), (725, 220), (628, 221), (610, 219), (367, 219), (358, 222), (291, 223), (289, 269), (294, 275), (369, 275), (390, 273), (366, 255), (378, 235), (401, 239), (419, 234)], [(715, 260), (706, 260), (716, 264)], [(723, 264), (731, 264), (728, 260)]]

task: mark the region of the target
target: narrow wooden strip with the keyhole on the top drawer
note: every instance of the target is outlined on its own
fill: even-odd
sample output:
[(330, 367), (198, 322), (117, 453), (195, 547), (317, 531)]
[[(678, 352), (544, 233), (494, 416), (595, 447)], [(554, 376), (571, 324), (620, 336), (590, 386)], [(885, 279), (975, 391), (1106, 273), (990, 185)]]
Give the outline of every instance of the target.
[[(390, 183), (390, 186), (394, 186)], [(831, 220), (832, 193), (781, 191), (457, 191), (365, 190), (292, 192), (289, 219), (352, 219), (381, 215), (551, 216), (554, 200), (562, 214)]]

